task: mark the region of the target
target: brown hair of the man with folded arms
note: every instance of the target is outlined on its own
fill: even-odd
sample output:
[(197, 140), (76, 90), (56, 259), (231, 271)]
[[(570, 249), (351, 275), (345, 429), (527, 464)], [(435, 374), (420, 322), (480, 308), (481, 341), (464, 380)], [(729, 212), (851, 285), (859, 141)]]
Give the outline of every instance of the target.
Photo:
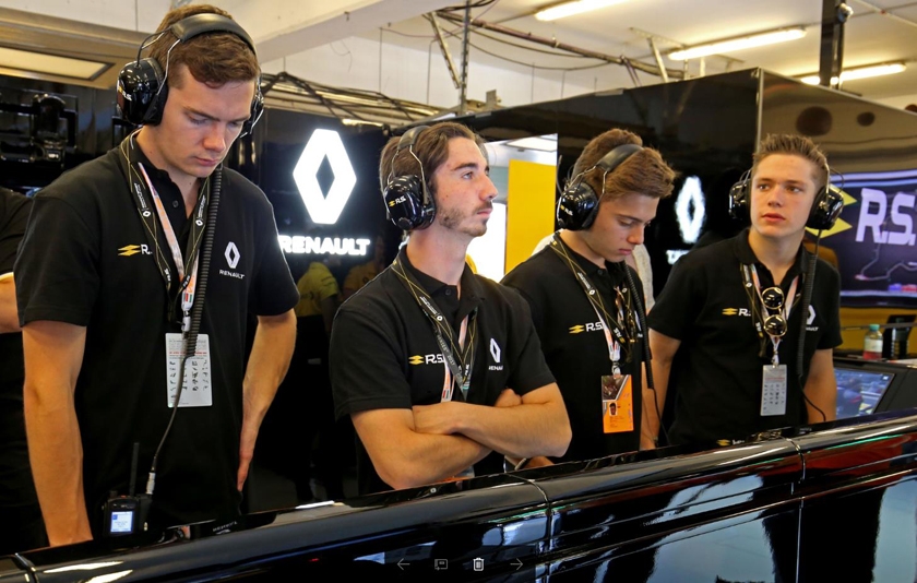
[[(430, 191), (431, 195), (436, 194), (433, 174), (449, 158), (449, 141), (453, 138), (466, 138), (474, 141), (480, 148), (484, 158), (487, 159), (487, 150), (484, 147), (485, 141), (480, 135), (461, 123), (441, 121), (421, 130), (414, 142), (413, 151), (422, 165), (424, 177), (427, 179), (427, 190)], [(390, 178), (412, 174), (420, 176), (420, 167), (418, 167), (414, 156), (407, 152), (407, 148), (397, 152), (400, 141), (400, 135), (392, 138), (382, 148), (382, 156), (379, 160), (379, 186), (383, 191), (389, 185)], [(395, 153), (397, 153), (397, 157), (395, 157)], [(392, 164), (393, 157), (394, 165)]]

